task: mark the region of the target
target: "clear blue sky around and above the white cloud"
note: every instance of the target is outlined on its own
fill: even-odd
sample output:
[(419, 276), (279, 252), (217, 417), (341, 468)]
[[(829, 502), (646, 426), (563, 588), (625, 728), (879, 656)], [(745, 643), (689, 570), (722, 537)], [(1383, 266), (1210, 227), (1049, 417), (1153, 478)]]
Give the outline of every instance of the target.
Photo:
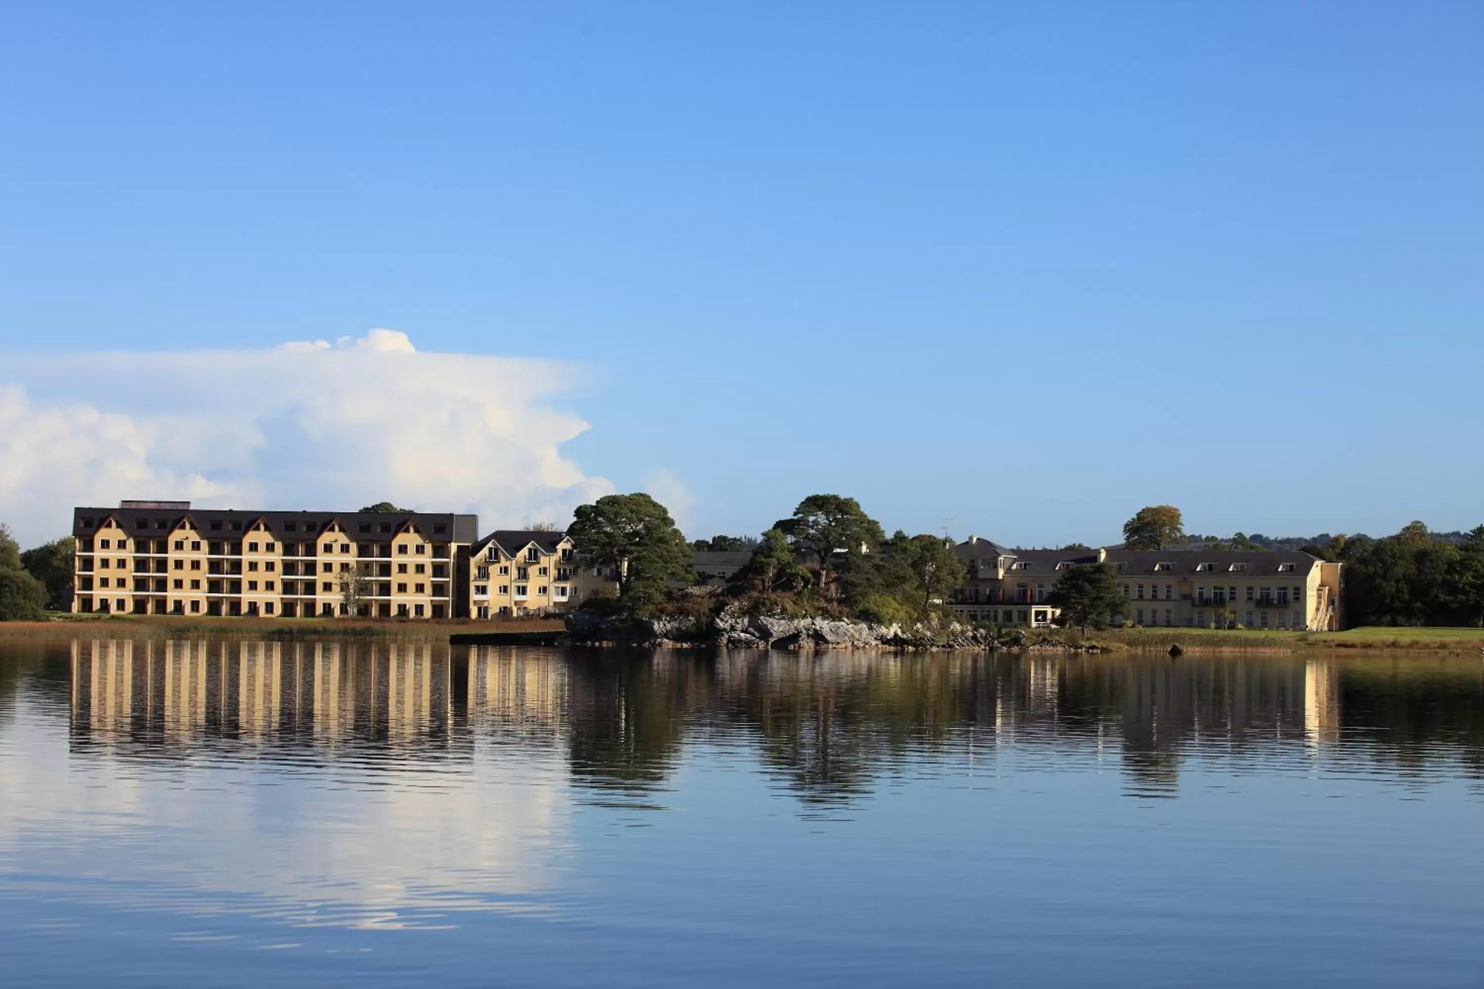
[(1484, 522), (1478, 4), (4, 22), (0, 386), (33, 402), (18, 356), (386, 326), (571, 366), (561, 457), (668, 472), (692, 534), (813, 491), (1020, 544), (1150, 503)]

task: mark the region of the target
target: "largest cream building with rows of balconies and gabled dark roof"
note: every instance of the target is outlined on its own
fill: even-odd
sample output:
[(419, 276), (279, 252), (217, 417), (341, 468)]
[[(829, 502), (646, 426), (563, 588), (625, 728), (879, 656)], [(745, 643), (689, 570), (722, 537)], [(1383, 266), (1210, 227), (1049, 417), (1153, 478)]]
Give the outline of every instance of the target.
[(74, 509), (73, 611), (457, 617), (478, 528), (473, 515), (423, 512)]

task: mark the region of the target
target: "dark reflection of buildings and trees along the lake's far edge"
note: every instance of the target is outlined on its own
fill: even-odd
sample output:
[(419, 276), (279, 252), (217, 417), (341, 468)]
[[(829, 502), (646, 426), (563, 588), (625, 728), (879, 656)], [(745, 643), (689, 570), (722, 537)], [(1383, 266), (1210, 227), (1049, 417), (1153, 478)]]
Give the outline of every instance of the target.
[(564, 761), (571, 781), (601, 799), (641, 804), (663, 790), (687, 744), (752, 753), (804, 802), (855, 799), (910, 761), (971, 765), (996, 750), (1048, 770), (1116, 758), (1128, 792), (1168, 796), (1195, 759), (1327, 758), (1346, 718), (1350, 727), (1407, 718), (1423, 747), (1434, 722), (1474, 725), (1448, 737), (1478, 761), (1480, 689), (1465, 675), (1454, 676), (1462, 689), (1419, 681), (1437, 692), (1419, 721), (1411, 706), (1365, 700), (1370, 670), (1291, 657), (93, 639), (73, 644), (71, 691), (79, 744), (358, 746), (469, 761), (485, 738)]

